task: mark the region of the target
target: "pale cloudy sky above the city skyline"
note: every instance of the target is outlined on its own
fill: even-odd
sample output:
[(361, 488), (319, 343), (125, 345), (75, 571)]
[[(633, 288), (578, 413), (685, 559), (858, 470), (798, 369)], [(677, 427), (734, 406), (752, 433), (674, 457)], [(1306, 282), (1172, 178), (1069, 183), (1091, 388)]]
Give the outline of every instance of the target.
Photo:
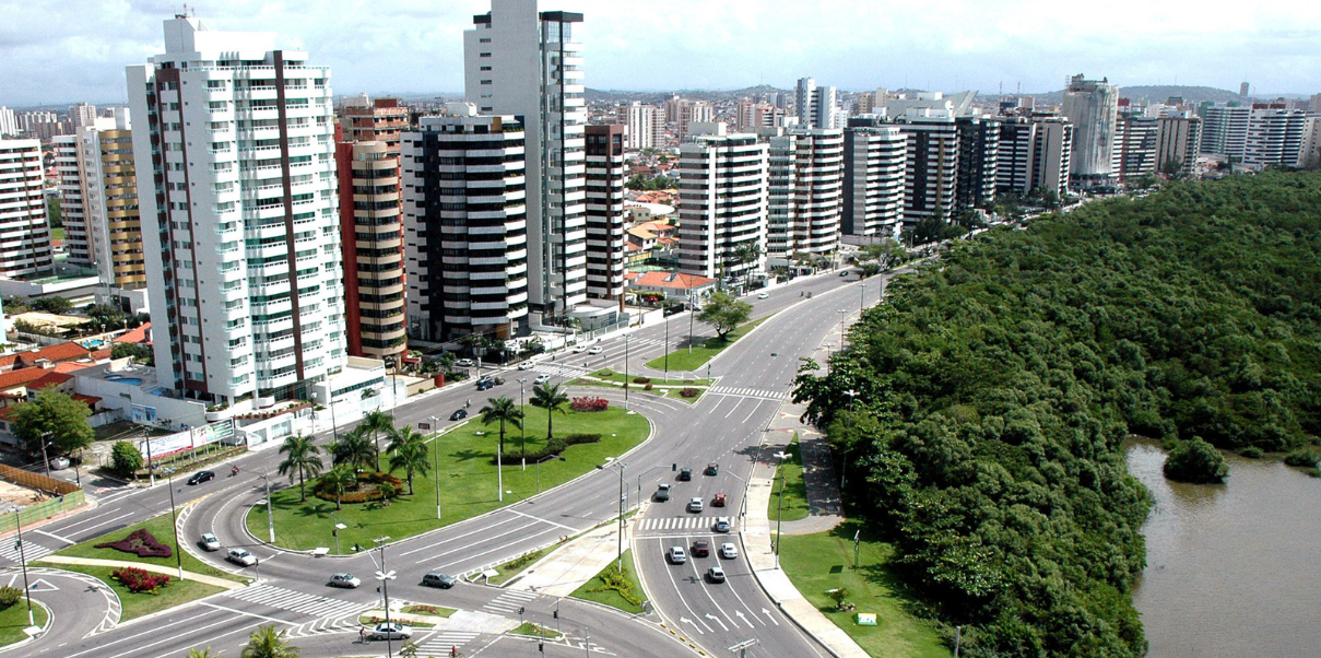
[[(124, 66), (164, 49), (162, 0), (0, 0), (0, 104), (124, 102)], [(462, 30), (490, 0), (193, 0), (213, 30), (275, 32), (332, 67), (337, 94), (461, 92)], [(542, 0), (581, 12), (587, 85), (760, 83), (1059, 90), (1067, 78), (1321, 91), (1321, 3)]]

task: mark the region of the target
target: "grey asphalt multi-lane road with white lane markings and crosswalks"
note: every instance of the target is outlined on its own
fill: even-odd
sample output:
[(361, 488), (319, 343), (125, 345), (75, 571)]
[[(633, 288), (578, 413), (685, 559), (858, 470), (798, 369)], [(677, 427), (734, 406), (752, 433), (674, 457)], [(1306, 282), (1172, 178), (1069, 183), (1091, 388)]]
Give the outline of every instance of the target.
[[(709, 538), (716, 547), (724, 540), (737, 543), (737, 539), (712, 532), (711, 523), (716, 515), (732, 517), (734, 526), (729, 536), (736, 536), (744, 489), (762, 431), (789, 391), (799, 365), (798, 357), (811, 353), (843, 316), (856, 313), (864, 295), (865, 304), (873, 304), (878, 292), (875, 279), (864, 289), (856, 277), (845, 280), (827, 275), (801, 279), (775, 289), (768, 299), (749, 299), (754, 303), (754, 317), (778, 314), (713, 361), (711, 370), (719, 382), (700, 400), (690, 404), (647, 394), (630, 395), (630, 408), (653, 424), (653, 440), (621, 460), (627, 464), (624, 473), (630, 506), (650, 495), (658, 482), (671, 481), (675, 476), (671, 466), (676, 460), (694, 469), (691, 482), (675, 482), (672, 498), (666, 503), (647, 505), (635, 525), (635, 562), (647, 595), (655, 604), (655, 614), (634, 617), (571, 599), (557, 600), (478, 584), (461, 583), (453, 589), (439, 591), (420, 583), (421, 575), (428, 571), (470, 572), (609, 521), (618, 513), (618, 470), (592, 470), (517, 505), (386, 547), (386, 567), (399, 576), (388, 585), (391, 600), (464, 610), (461, 622), (452, 625), (464, 630), (419, 636), (421, 654), (439, 655), (450, 646), (468, 653), (481, 650), (486, 655), (528, 653), (528, 647), (517, 638), (499, 634), (519, 618), (517, 610), (523, 609), (527, 621), (552, 628), (559, 624), (567, 633), (565, 641), (547, 645), (550, 655), (569, 655), (569, 651), (584, 649), (616, 655), (680, 654), (684, 645), (660, 629), (658, 621), (680, 629), (708, 653), (724, 653), (736, 642), (758, 638), (761, 645), (748, 655), (826, 655), (822, 647), (775, 610), (741, 556), (733, 560), (699, 558), (690, 559), (684, 566), (671, 566), (663, 559), (663, 550), (671, 544), (688, 547), (699, 536)], [(687, 317), (678, 316), (671, 322), (670, 345), (680, 345), (687, 340)], [(697, 328), (703, 329), (699, 338), (711, 334), (700, 324)], [(662, 325), (631, 333), (627, 340), (630, 371), (641, 370), (642, 363), (664, 351), (664, 334)], [(600, 354), (561, 355), (555, 362), (539, 363), (535, 371), (563, 381), (600, 367), (624, 370), (624, 338), (594, 345), (602, 347)], [(511, 379), (511, 374), (506, 377)], [(490, 392), (507, 395), (499, 388), (477, 394), (470, 384), (449, 387), (395, 410), (395, 419), (399, 424), (416, 424), (431, 416), (445, 419), (464, 400)], [(610, 398), (614, 404), (622, 402), (622, 391), (618, 390), (592, 388), (592, 392)], [(57, 613), (57, 630), (21, 647), (18, 654), (165, 658), (182, 655), (189, 647), (211, 646), (229, 651), (239, 647), (252, 629), (264, 624), (287, 629), (308, 658), (383, 654), (383, 646), (357, 643), (357, 614), (379, 606), (380, 595), (374, 584), (349, 591), (328, 585), (329, 575), (336, 571), (349, 571), (370, 581), (371, 573), (380, 568), (379, 552), (313, 558), (259, 544), (247, 534), (243, 515), (264, 495), (263, 481), (256, 473), (263, 466), (273, 470), (277, 460), (275, 451), (246, 455), (236, 460), (242, 469), (239, 476), (221, 477), (196, 488), (176, 488), (176, 502), (180, 505), (205, 495), (185, 519), (184, 536), (194, 538), (210, 531), (226, 546), (250, 546), (260, 559), (263, 584), (217, 595), (160, 617), (110, 628), (90, 637), (83, 637), (86, 632), (71, 625), (73, 620)], [(717, 476), (701, 474), (708, 462), (720, 464)], [(727, 495), (724, 510), (713, 511), (708, 506), (700, 515), (683, 510), (688, 498), (701, 497), (709, 505), (716, 493)], [(169, 510), (164, 488), (102, 492), (99, 502), (95, 510), (50, 523), (40, 534), (25, 535), (29, 539), (29, 559)], [(190, 550), (217, 568), (256, 576), (254, 567), (239, 569), (222, 562), (223, 552)], [(0, 554), (0, 560), (12, 564), (4, 554)], [(701, 577), (717, 562), (723, 563), (729, 576), (724, 584), (712, 584)], [(7, 571), (13, 572), (12, 568)], [(62, 596), (61, 608), (75, 606), (78, 612), (74, 616), (81, 621), (90, 617), (100, 620), (98, 614), (112, 612), (108, 609), (112, 604), (96, 589), (79, 592), (79, 597), (73, 600), (67, 593)], [(556, 606), (559, 618), (551, 614)]]

